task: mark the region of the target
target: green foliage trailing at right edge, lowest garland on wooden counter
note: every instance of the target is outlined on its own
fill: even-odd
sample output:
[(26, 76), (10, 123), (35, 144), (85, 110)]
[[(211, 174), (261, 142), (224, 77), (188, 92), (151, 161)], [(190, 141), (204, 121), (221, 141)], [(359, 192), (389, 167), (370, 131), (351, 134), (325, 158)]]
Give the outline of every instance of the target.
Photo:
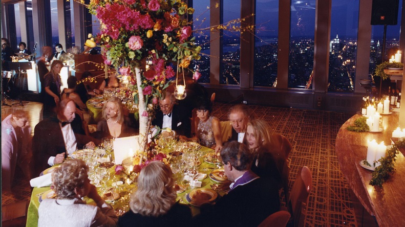
[(398, 148), (405, 147), (405, 140), (397, 141), (392, 145), (391, 149), (387, 150), (386, 156), (381, 157), (378, 162), (381, 166), (375, 168), (373, 177), (370, 180), (370, 185), (382, 188), (382, 184), (390, 178), (391, 174), (395, 171), (394, 162), (398, 154)]

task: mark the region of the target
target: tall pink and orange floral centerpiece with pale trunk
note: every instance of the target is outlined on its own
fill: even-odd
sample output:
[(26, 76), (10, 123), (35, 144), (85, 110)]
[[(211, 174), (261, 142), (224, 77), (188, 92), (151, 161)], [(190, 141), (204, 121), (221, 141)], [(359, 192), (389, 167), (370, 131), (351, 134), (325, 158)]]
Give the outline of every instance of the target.
[(91, 0), (86, 6), (100, 20), (104, 63), (130, 82), (138, 104), (140, 150), (145, 151), (167, 80), (200, 59), (201, 47), (193, 43), (187, 20), (194, 9), (180, 0)]

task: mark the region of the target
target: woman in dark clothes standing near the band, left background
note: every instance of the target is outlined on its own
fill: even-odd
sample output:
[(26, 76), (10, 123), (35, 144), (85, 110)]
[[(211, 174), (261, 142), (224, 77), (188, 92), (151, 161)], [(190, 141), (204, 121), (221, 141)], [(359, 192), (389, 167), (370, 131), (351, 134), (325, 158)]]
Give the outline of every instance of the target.
[(54, 60), (51, 64), (51, 71), (44, 77), (44, 115), (55, 112), (54, 109), (61, 100), (60, 86), (62, 82), (59, 73), (62, 67), (61, 61)]

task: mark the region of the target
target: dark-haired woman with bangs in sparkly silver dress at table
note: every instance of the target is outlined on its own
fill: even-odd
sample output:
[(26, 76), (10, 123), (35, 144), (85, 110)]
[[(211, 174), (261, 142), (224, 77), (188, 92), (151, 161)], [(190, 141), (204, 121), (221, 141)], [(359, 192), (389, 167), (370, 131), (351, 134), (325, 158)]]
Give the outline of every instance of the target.
[(209, 100), (203, 100), (197, 105), (197, 118), (195, 119), (192, 132), (194, 137), (188, 139), (180, 136), (181, 139), (199, 139), (200, 144), (215, 149), (217, 152), (222, 147), (221, 124), (218, 118), (211, 116), (212, 104)]

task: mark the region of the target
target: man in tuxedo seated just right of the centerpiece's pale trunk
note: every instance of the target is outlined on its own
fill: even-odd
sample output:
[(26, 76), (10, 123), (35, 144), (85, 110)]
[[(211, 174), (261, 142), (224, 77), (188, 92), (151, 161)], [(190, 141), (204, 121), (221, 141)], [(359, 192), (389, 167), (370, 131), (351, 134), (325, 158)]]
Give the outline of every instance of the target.
[(160, 110), (156, 112), (152, 125), (160, 128), (170, 128), (178, 135), (190, 137), (191, 120), (188, 112), (181, 106), (175, 105), (176, 99), (170, 92), (165, 92), (164, 99), (159, 100)]

